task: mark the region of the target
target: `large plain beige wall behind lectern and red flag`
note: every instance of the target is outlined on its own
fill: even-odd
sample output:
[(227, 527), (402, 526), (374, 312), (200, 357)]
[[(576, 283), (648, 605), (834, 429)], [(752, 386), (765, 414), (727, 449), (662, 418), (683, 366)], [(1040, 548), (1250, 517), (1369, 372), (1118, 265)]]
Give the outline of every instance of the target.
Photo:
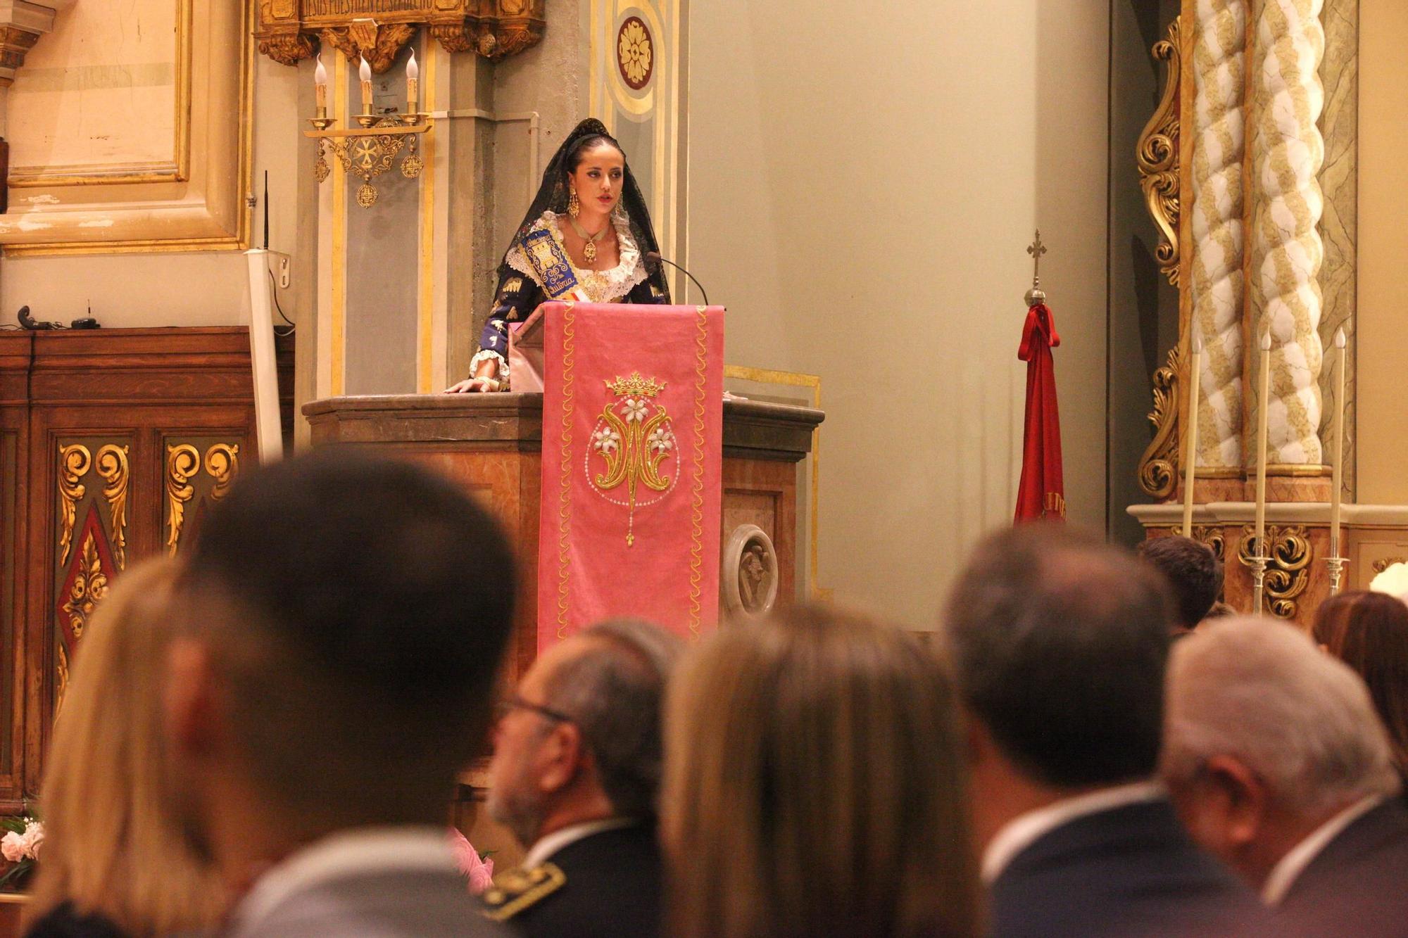
[(1069, 511), (1104, 530), (1107, 13), (691, 6), (687, 262), (729, 307), (731, 363), (822, 379), (838, 601), (931, 627), (1010, 523), (1038, 225)]

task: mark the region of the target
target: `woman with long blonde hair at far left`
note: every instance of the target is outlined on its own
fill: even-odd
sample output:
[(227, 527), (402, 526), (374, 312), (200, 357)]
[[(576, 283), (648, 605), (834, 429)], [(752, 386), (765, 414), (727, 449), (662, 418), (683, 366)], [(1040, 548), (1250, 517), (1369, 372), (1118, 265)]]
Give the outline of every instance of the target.
[(32, 938), (206, 930), (224, 908), (169, 807), (158, 673), (173, 577), (170, 561), (134, 566), (83, 630), (41, 790)]

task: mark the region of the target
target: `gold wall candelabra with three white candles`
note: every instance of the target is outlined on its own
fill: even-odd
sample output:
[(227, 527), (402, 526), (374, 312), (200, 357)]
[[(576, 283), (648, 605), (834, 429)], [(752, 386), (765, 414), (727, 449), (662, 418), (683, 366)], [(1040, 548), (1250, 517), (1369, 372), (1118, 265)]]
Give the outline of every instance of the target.
[(372, 180), (384, 173), (396, 162), (397, 155), (406, 151), (401, 158), (401, 175), (415, 179), (425, 168), (425, 161), (418, 152), (417, 139), (431, 128), (432, 118), (418, 107), (420, 101), (420, 69), (415, 65), (415, 54), (406, 65), (406, 111), (376, 114), (372, 110), (372, 68), (366, 59), (358, 69), (362, 83), (362, 113), (353, 120), (356, 127), (335, 127), (337, 118), (328, 117), (328, 73), (318, 61), (314, 72), (314, 93), (317, 99), (317, 117), (310, 117), (313, 130), (304, 131), (304, 137), (318, 141), (317, 161), (313, 163), (313, 175), (318, 183), (328, 177), (328, 154), (337, 156), (345, 172), (362, 177), (362, 185), (356, 190), (356, 204), (370, 208), (376, 204), (376, 186)]

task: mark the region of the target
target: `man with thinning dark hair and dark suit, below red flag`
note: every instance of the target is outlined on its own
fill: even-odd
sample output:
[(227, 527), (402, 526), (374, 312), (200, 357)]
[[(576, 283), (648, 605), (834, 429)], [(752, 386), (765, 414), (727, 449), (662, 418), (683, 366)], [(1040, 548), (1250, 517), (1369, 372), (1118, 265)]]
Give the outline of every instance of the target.
[(1002, 531), (963, 572), (939, 642), (997, 938), (1225, 935), (1259, 913), (1153, 779), (1170, 625), (1152, 569), (1063, 525)]

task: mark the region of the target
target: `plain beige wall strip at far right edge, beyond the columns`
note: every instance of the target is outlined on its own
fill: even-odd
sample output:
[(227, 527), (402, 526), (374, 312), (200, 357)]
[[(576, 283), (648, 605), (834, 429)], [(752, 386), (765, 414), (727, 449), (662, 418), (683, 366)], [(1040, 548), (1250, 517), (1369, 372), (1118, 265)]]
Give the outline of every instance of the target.
[(1360, 0), (1359, 86), (1359, 501), (1408, 503), (1408, 4)]

